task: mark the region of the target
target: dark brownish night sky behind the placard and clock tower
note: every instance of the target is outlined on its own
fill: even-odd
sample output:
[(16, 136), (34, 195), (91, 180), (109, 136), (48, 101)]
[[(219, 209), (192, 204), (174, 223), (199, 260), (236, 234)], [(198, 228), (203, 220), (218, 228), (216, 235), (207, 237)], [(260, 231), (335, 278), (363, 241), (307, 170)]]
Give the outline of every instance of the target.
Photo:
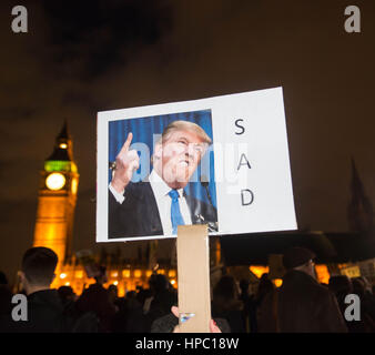
[[(17, 4), (28, 33), (11, 31)], [(345, 32), (351, 4), (361, 33)], [(80, 172), (73, 250), (95, 245), (98, 111), (282, 85), (298, 227), (347, 231), (351, 158), (375, 201), (374, 1), (2, 0), (0, 42), (0, 270), (11, 280), (64, 119)]]

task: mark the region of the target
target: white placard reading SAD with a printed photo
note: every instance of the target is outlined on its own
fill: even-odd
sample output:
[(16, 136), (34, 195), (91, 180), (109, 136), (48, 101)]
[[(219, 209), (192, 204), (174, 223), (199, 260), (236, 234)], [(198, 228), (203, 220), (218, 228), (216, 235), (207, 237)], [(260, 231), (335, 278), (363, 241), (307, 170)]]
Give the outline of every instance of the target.
[[(98, 242), (175, 236), (171, 230), (174, 223), (173, 217), (171, 220), (173, 203), (163, 197), (165, 186), (155, 190), (154, 182), (169, 185), (170, 181), (163, 183), (154, 180), (156, 165), (154, 168), (149, 164), (150, 156), (158, 151), (155, 144), (163, 130), (174, 121), (193, 122), (212, 140), (199, 165), (200, 173), (191, 178), (193, 183), (189, 183), (182, 192), (180, 190), (180, 212), (185, 224), (210, 221), (211, 235), (286, 231), (297, 227), (283, 91), (282, 88), (275, 88), (99, 112)], [(119, 200), (118, 194), (113, 203), (115, 193), (111, 192), (113, 189), (109, 189), (113, 171), (109, 170), (109, 165), (115, 161), (130, 131), (133, 140), (129, 150), (138, 151), (141, 166), (124, 189), (124, 202)], [(163, 149), (163, 152), (168, 151), (164, 145)], [(163, 176), (161, 169), (164, 172), (164, 168), (159, 168), (159, 178)], [(150, 176), (153, 183), (149, 183), (150, 172), (153, 172)], [(209, 180), (207, 187), (199, 181), (202, 175)], [(197, 210), (196, 201), (201, 210)], [(113, 211), (121, 212), (113, 217)], [(216, 213), (216, 221), (213, 221), (213, 211)], [(130, 220), (125, 221), (128, 217)], [(113, 229), (111, 223), (120, 226)]]

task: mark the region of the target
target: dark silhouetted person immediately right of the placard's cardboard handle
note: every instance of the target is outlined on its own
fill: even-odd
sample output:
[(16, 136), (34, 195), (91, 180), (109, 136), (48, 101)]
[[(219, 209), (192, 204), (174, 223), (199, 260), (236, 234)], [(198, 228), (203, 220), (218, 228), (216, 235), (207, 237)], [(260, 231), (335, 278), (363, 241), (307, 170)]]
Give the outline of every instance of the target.
[(213, 288), (212, 316), (227, 321), (232, 333), (244, 333), (243, 303), (239, 288), (231, 275), (223, 275)]

